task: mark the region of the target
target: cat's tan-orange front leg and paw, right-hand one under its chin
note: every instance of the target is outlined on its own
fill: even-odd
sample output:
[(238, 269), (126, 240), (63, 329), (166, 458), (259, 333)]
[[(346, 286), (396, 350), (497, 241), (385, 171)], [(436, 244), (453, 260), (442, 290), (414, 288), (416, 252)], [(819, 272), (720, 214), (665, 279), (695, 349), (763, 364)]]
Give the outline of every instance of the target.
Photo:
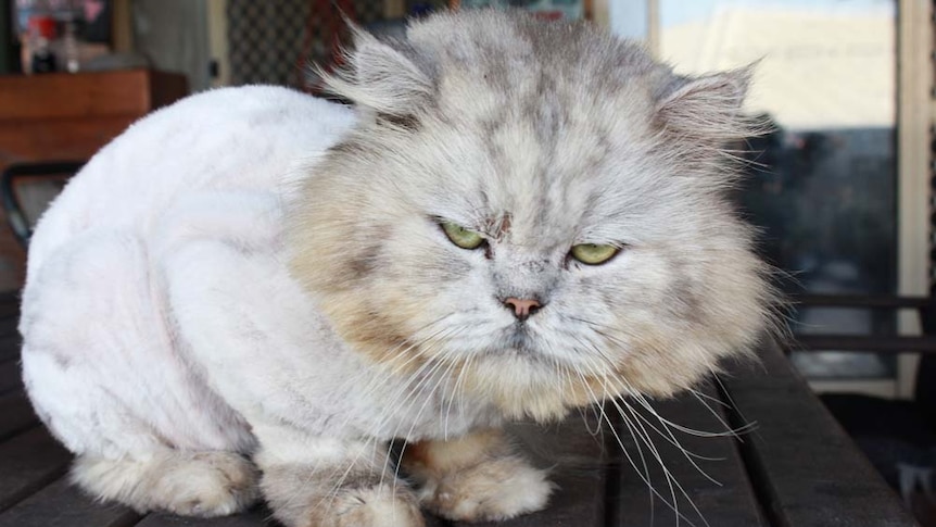
[(419, 501), (454, 520), (499, 520), (546, 506), (553, 485), (501, 430), (406, 447), (403, 463)]

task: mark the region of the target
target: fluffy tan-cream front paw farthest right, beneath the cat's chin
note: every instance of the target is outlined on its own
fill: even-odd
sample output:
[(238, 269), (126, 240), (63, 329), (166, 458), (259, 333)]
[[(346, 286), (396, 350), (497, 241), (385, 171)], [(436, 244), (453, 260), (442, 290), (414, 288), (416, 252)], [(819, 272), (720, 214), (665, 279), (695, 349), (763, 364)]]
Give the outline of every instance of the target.
[(419, 501), (453, 520), (501, 520), (545, 507), (553, 489), (545, 470), (506, 456), (427, 480)]

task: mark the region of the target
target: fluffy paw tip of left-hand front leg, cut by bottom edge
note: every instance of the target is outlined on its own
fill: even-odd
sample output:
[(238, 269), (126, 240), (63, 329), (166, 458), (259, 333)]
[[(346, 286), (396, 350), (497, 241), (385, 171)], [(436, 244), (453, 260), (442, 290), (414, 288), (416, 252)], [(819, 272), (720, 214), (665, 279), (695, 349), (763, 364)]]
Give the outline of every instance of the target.
[[(321, 506), (324, 505), (324, 506)], [(316, 506), (308, 527), (423, 527), (416, 497), (408, 489), (380, 485), (339, 491)]]

